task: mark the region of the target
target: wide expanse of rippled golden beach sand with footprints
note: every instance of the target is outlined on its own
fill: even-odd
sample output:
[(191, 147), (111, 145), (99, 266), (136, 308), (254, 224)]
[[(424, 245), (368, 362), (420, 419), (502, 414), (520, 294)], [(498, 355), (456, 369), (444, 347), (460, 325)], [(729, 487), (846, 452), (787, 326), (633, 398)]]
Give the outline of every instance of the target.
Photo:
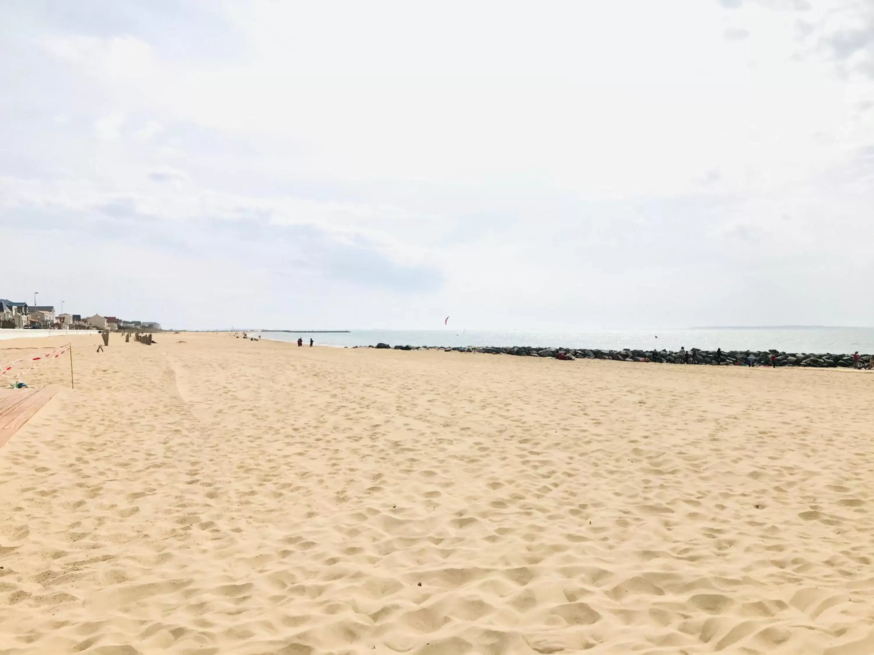
[(874, 375), (156, 338), (0, 449), (0, 653), (874, 652)]

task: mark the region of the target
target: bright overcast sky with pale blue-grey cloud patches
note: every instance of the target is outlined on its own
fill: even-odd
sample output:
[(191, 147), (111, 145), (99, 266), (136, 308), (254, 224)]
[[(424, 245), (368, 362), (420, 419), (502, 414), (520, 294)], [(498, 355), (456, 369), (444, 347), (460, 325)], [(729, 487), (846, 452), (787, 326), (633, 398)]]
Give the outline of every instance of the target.
[(0, 4), (0, 297), (874, 325), (874, 3)]

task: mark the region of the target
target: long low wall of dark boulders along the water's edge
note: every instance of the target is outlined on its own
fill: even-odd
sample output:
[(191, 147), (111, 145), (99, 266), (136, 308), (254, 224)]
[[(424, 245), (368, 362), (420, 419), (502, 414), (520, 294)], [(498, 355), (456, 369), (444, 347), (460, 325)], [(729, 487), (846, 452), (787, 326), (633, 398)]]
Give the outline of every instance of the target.
[[(355, 348), (392, 348), (387, 343), (376, 346), (355, 346)], [(538, 346), (511, 347), (454, 347), (443, 346), (395, 346), (393, 350), (445, 350), (456, 353), (487, 353), (489, 355), (517, 355), (524, 357), (551, 357), (553, 359), (609, 359), (616, 362), (660, 362), (668, 364), (711, 364), (711, 365), (746, 365), (750, 355), (756, 366), (770, 366), (771, 355), (774, 364), (781, 366), (802, 366), (812, 369), (850, 369), (856, 365), (853, 355), (833, 355), (831, 353), (786, 353), (780, 350), (699, 350), (690, 348), (680, 352), (676, 350), (640, 350), (626, 348), (624, 350), (600, 350), (597, 348), (542, 348)], [(859, 362), (867, 365), (871, 355), (859, 354)]]

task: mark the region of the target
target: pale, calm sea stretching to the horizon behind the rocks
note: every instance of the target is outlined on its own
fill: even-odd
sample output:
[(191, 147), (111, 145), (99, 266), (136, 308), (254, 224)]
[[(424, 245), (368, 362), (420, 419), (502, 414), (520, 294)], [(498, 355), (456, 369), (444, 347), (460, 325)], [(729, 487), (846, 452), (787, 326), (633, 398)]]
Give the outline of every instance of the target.
[[(345, 334), (262, 332), (264, 339), (309, 338), (320, 346), (543, 346), (564, 348), (667, 348), (767, 350), (798, 353), (874, 353), (874, 327), (751, 327), (688, 330), (537, 332), (524, 330), (352, 330)], [(656, 338), (657, 335), (657, 338)]]

